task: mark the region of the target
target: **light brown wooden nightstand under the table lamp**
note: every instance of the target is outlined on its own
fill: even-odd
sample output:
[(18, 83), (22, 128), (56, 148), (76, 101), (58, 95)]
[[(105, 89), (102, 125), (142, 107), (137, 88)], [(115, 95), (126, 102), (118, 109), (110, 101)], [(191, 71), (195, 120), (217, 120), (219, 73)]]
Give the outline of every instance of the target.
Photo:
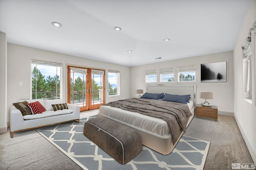
[(208, 117), (218, 120), (218, 106), (206, 107), (201, 104), (196, 105), (196, 116)]

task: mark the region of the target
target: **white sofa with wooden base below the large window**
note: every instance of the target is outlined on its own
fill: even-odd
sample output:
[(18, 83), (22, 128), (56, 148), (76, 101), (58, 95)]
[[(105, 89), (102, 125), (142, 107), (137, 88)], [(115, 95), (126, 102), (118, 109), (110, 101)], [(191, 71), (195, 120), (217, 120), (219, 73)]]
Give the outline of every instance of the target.
[[(22, 102), (21, 100), (19, 102)], [(45, 107), (46, 111), (35, 115), (22, 115), (21, 111), (15, 106), (10, 106), (10, 136), (13, 133), (64, 123), (68, 121), (80, 121), (80, 107), (67, 104), (68, 109), (54, 111), (52, 104), (63, 104), (63, 99), (41, 99), (41, 100), (26, 100), (28, 103), (40, 102)]]

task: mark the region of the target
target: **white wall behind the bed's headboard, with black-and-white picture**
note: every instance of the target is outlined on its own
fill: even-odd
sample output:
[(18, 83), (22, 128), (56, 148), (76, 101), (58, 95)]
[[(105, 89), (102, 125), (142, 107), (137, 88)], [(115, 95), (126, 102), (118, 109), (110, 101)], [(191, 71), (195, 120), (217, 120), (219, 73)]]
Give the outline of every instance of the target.
[[(215, 63), (215, 62), (227, 62), (227, 82), (202, 82), (201, 83), (201, 64), (204, 63)], [(196, 65), (196, 82), (178, 82), (178, 71), (179, 66), (190, 66)], [(143, 89), (146, 92), (145, 83), (145, 70), (156, 69), (158, 74), (158, 82), (160, 83), (160, 68), (174, 68), (174, 82), (168, 84), (196, 84), (196, 103), (200, 104), (204, 102), (204, 99), (200, 98), (201, 92), (213, 92), (212, 100), (208, 102), (218, 106), (219, 111), (223, 112), (234, 112), (234, 74), (233, 74), (233, 52), (228, 51), (224, 53), (216, 53), (211, 55), (204, 55), (198, 57), (190, 57), (186, 59), (179, 59), (174, 61), (166, 61), (155, 64), (146, 64), (142, 66), (131, 67), (131, 96), (136, 97), (136, 89)], [(166, 84), (166, 83), (165, 83)]]

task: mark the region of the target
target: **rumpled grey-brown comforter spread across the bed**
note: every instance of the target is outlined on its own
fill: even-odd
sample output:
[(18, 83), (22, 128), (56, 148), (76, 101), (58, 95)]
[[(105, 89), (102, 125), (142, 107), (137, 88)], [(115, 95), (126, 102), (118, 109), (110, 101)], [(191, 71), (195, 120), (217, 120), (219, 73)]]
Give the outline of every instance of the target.
[(176, 143), (182, 131), (186, 133), (186, 125), (192, 115), (186, 104), (162, 100), (130, 98), (105, 105), (163, 119), (170, 127), (173, 144)]

